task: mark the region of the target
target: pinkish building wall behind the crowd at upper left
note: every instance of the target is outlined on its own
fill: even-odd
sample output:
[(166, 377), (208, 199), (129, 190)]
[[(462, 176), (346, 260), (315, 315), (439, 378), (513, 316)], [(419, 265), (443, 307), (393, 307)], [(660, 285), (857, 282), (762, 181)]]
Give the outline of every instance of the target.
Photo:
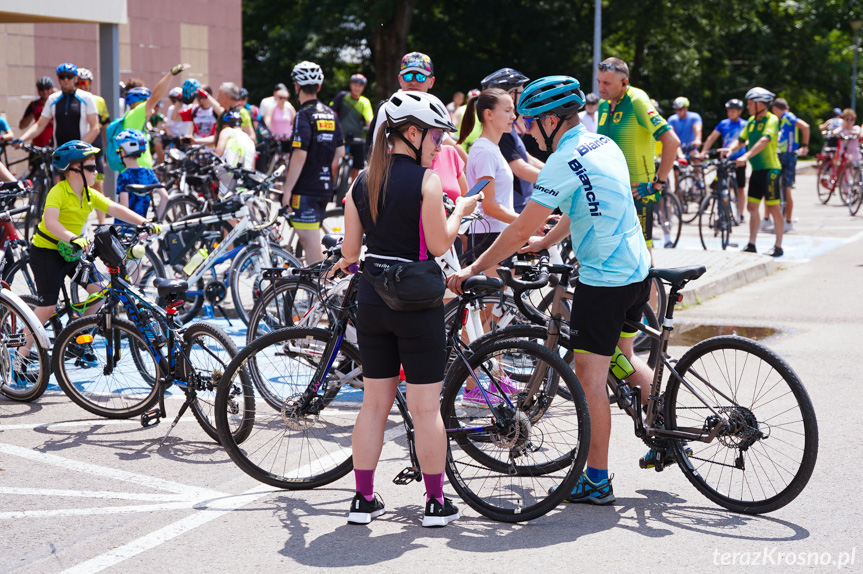
[[(130, 0), (128, 24), (120, 25), (120, 77), (153, 87), (176, 64), (185, 78), (218, 88), (242, 84), (242, 0)], [(89, 68), (99, 85), (98, 24), (0, 24), (0, 114), (16, 133), (36, 79), (62, 62)]]

